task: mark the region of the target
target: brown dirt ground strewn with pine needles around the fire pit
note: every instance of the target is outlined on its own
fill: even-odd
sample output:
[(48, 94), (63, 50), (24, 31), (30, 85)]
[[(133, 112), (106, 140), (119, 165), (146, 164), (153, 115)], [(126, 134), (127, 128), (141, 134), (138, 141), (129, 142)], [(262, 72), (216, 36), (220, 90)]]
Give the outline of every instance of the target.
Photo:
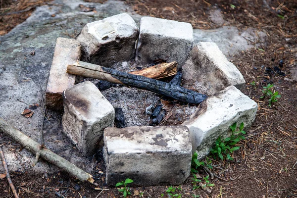
[[(246, 79), (245, 94), (259, 105), (246, 140), (239, 144), (241, 148), (234, 153), (233, 161), (212, 159), (211, 172), (222, 179), (215, 177), (210, 180), (214, 184), (210, 187), (211, 194), (201, 188), (193, 191), (193, 176), (180, 187), (175, 187), (174, 194), (183, 198), (297, 198), (297, 82), (290, 73), (290, 69), (297, 66), (297, 1), (126, 0), (126, 3), (139, 14), (190, 22), (194, 28), (213, 29), (232, 25), (239, 29), (257, 28), (267, 34), (265, 43), (249, 40), (254, 48), (231, 58)], [(9, 8), (10, 5), (4, 5), (0, 12), (3, 13), (7, 6)], [(13, 11), (22, 9), (14, 7)], [(7, 33), (33, 9), (21, 13), (21, 16), (0, 16), (0, 34)], [(211, 21), (211, 9), (221, 11), (225, 20), (223, 24)], [(12, 20), (9, 25), (6, 17)], [(268, 98), (260, 99), (263, 87), (269, 83), (281, 95), (271, 107)], [(101, 153), (94, 157), (99, 162), (94, 172), (100, 190), (94, 190), (94, 186), (82, 184), (63, 172), (57, 175), (12, 172), (11, 177), (22, 198), (121, 197), (116, 188), (106, 186), (104, 174), (99, 172), (104, 172)], [(207, 175), (203, 169), (198, 174), (202, 177)], [(0, 198), (13, 197), (5, 179), (0, 180), (0, 187), (3, 189)], [(135, 197), (158, 198), (164, 194), (163, 197), (167, 198), (170, 197), (166, 194), (167, 188), (138, 187), (130, 191)]]

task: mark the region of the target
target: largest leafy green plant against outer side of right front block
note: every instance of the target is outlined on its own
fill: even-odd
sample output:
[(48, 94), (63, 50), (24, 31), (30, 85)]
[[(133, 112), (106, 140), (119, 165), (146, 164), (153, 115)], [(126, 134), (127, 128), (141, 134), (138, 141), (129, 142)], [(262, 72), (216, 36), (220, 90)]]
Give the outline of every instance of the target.
[(233, 153), (233, 151), (238, 150), (240, 148), (233, 146), (241, 140), (246, 139), (244, 136), (241, 135), (246, 134), (246, 132), (243, 131), (244, 123), (241, 123), (239, 131), (236, 131), (236, 128), (237, 123), (232, 124), (230, 126), (230, 129), (232, 130), (231, 136), (225, 139), (221, 139), (221, 137), (218, 137), (218, 139), (215, 141), (215, 146), (213, 148), (210, 148), (210, 152), (214, 156), (214, 158), (217, 155), (220, 159), (224, 159), (224, 156), (226, 155), (226, 158), (228, 160), (233, 160), (233, 158), (230, 156), (230, 153)]

